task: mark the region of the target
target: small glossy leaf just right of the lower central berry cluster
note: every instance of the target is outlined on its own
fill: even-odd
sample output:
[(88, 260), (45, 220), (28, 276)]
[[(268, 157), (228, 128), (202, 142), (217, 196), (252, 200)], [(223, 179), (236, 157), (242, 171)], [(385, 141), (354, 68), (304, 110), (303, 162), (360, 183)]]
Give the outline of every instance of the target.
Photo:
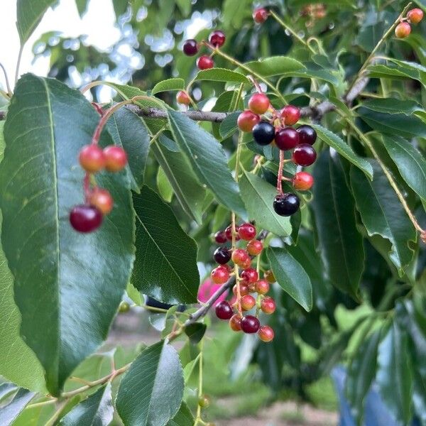
[(299, 262), (285, 249), (269, 247), (266, 256), (277, 283), (305, 310), (312, 309), (312, 284)]

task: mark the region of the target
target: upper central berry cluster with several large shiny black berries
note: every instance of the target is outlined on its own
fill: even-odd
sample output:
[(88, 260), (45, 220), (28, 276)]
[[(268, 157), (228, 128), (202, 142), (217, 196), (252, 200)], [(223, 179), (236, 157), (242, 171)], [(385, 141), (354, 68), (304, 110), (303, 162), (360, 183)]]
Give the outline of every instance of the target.
[[(286, 105), (280, 111), (271, 106), (266, 94), (261, 92), (253, 94), (249, 99), (249, 109), (241, 112), (237, 124), (241, 131), (252, 132), (253, 139), (261, 146), (274, 143), (281, 151), (293, 150), (293, 163), (300, 166), (312, 165), (317, 153), (312, 145), (317, 139), (317, 133), (311, 126), (302, 124), (293, 129), (294, 124), (300, 119), (300, 109), (293, 105)], [(283, 160), (282, 160), (283, 161)], [(281, 163), (281, 162), (280, 162)], [(273, 208), (280, 216), (290, 216), (297, 212), (300, 200), (293, 192), (283, 193), (280, 191), (280, 181), (283, 179), (278, 175), (278, 195), (273, 202)], [(297, 172), (293, 179), (295, 190), (309, 190), (314, 179), (307, 172)]]

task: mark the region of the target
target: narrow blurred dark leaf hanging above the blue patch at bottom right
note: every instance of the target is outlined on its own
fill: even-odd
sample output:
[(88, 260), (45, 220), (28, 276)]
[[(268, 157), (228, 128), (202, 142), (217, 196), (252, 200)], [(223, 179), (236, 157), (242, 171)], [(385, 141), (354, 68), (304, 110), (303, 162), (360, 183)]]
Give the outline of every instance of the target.
[(351, 413), (358, 422), (364, 413), (364, 399), (376, 376), (376, 358), (380, 330), (371, 334), (361, 345), (351, 359), (346, 378), (346, 398), (351, 404)]

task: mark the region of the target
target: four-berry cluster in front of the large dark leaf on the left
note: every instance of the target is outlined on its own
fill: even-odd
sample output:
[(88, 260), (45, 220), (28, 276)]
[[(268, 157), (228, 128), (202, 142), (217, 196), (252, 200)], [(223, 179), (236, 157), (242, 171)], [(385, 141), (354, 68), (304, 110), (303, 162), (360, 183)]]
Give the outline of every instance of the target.
[(104, 214), (109, 214), (114, 205), (111, 194), (97, 186), (90, 187), (90, 178), (101, 170), (119, 172), (127, 164), (126, 151), (119, 146), (100, 148), (97, 143), (83, 146), (79, 161), (86, 171), (84, 178), (84, 204), (72, 208), (70, 224), (79, 232), (92, 232), (102, 224)]

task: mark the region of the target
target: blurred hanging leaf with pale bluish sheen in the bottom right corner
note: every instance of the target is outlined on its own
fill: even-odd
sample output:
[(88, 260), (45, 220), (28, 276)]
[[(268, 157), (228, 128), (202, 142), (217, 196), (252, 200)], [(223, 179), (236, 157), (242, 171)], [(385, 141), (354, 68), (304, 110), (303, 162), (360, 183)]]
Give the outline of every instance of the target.
[(395, 420), (408, 424), (412, 416), (413, 369), (408, 334), (394, 321), (378, 345), (376, 383)]

